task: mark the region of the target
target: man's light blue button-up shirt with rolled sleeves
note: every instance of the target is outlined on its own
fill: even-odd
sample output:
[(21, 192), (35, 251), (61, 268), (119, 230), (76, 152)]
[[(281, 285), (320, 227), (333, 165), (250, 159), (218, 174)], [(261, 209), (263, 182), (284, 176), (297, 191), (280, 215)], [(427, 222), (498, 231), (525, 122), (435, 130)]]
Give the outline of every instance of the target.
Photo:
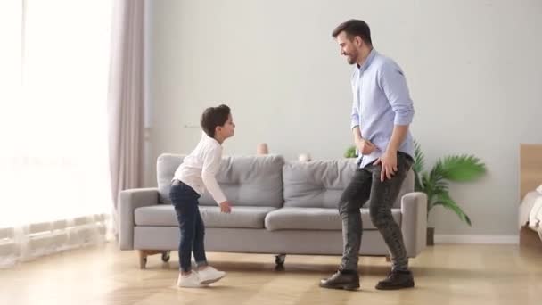
[[(359, 126), (361, 136), (376, 146), (374, 152), (361, 155), (361, 168), (370, 164), (388, 148), (395, 125), (410, 125), (414, 107), (403, 70), (390, 58), (372, 50), (364, 64), (352, 75), (352, 120), (350, 128)], [(414, 158), (413, 137), (408, 131), (399, 152)]]

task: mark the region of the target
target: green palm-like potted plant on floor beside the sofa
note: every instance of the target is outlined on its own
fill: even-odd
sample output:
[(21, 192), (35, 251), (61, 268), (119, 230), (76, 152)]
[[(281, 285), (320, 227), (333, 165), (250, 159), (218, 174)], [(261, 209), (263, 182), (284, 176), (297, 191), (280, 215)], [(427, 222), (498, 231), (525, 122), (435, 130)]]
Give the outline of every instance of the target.
[[(436, 206), (456, 213), (464, 223), (471, 226), (471, 218), (448, 193), (448, 182), (470, 182), (486, 172), (486, 166), (473, 155), (450, 155), (439, 158), (430, 171), (424, 171), (425, 158), (420, 144), (415, 142), (415, 191), (427, 194), (427, 217)], [(433, 245), (434, 227), (427, 228), (427, 244)]]

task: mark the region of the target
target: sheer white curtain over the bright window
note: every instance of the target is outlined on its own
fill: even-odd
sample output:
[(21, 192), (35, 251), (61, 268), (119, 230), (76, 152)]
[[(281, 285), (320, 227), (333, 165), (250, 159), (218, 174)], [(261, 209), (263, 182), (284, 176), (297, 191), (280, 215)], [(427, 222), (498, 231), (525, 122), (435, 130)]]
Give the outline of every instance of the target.
[[(0, 267), (104, 240), (109, 0), (0, 4)], [(4, 65), (3, 65), (4, 67)]]

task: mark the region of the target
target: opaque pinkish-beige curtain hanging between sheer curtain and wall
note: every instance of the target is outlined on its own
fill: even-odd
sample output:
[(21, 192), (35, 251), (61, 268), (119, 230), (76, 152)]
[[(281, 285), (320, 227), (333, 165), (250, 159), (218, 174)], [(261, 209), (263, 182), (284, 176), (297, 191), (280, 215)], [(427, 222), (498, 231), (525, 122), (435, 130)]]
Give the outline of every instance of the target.
[(108, 106), (115, 229), (119, 191), (143, 185), (144, 0), (115, 1), (112, 37)]

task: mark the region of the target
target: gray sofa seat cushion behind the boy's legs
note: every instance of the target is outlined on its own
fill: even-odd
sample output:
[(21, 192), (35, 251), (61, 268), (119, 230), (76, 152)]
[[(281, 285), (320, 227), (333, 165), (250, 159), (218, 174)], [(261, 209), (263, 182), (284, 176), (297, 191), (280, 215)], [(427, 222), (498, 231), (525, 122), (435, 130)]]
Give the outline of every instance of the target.
[[(263, 228), (264, 218), (273, 207), (232, 207), (229, 214), (221, 213), (218, 205), (200, 206), (205, 227)], [(177, 227), (177, 214), (172, 205), (159, 204), (137, 208), (134, 211), (136, 226)]]

